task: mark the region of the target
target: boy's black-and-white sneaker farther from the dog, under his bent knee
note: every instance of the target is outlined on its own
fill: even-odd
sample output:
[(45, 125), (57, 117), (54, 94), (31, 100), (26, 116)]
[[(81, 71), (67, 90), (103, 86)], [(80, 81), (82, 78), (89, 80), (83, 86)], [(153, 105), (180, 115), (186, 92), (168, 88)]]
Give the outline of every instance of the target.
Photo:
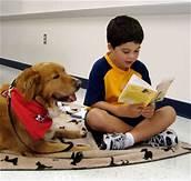
[(171, 148), (178, 144), (178, 135), (177, 133), (168, 129), (159, 134), (153, 135), (148, 143), (151, 147), (164, 147), (164, 148)]

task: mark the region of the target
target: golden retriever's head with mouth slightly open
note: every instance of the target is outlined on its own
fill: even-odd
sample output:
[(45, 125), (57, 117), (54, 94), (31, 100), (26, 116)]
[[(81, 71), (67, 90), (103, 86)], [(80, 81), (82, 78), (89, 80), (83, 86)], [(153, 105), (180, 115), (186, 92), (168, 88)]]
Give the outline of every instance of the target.
[(57, 101), (74, 101), (74, 92), (80, 84), (80, 80), (53, 62), (38, 63), (23, 70), (14, 82), (27, 101), (37, 100), (44, 107), (52, 107)]

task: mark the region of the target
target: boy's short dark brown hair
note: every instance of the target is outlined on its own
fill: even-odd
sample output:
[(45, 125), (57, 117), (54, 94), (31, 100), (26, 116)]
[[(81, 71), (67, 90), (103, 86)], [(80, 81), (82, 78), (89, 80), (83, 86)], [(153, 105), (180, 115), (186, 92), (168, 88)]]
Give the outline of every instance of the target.
[(131, 41), (141, 44), (143, 37), (139, 21), (128, 16), (113, 18), (107, 27), (107, 40), (113, 49)]

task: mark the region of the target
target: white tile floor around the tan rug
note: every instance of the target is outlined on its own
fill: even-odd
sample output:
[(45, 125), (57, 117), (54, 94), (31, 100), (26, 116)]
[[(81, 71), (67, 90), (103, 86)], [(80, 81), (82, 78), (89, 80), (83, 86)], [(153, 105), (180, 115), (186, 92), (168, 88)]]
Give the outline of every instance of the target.
[[(77, 93), (78, 102), (82, 102), (84, 90)], [(179, 139), (191, 143), (191, 120), (178, 117), (171, 127)], [(117, 168), (102, 168), (71, 171), (1, 171), (1, 181), (191, 181), (191, 154), (150, 163)]]

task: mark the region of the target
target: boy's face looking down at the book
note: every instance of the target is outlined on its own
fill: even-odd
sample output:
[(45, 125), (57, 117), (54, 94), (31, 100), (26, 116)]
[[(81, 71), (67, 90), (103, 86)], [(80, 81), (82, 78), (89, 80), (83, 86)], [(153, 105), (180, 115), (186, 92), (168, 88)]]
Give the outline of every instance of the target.
[(140, 44), (134, 42), (127, 42), (114, 49), (108, 44), (110, 50), (110, 59), (112, 62), (122, 70), (128, 70), (131, 64), (138, 59)]

